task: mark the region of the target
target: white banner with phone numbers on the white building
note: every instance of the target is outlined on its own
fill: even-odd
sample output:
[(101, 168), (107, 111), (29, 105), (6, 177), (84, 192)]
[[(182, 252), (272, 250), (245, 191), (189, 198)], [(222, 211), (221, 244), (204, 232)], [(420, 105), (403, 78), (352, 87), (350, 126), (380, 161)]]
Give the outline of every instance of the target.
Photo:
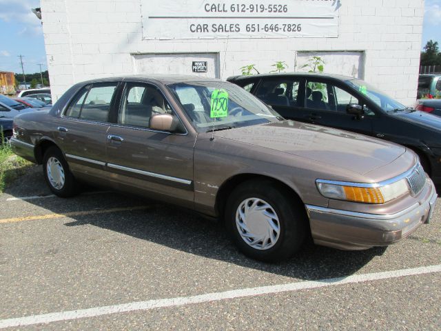
[(338, 37), (340, 0), (141, 0), (144, 39)]

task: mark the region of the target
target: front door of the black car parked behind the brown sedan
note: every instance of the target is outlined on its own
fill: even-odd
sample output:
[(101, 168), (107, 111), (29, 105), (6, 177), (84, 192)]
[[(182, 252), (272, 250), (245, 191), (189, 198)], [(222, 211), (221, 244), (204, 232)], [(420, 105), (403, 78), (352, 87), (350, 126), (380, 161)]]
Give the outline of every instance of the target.
[[(365, 114), (356, 116), (347, 112), (348, 105), (363, 106)], [(306, 119), (309, 123), (342, 130), (372, 134), (372, 123), (378, 115), (369, 109), (362, 98), (336, 81), (307, 79), (305, 85)]]

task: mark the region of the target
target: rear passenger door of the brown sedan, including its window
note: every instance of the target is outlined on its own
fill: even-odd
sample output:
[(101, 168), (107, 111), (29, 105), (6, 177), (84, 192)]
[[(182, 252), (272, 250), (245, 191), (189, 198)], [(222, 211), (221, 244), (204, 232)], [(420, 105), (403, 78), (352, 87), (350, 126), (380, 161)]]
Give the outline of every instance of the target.
[(84, 86), (57, 122), (57, 143), (74, 174), (106, 177), (103, 170), (108, 119), (118, 84), (115, 81)]

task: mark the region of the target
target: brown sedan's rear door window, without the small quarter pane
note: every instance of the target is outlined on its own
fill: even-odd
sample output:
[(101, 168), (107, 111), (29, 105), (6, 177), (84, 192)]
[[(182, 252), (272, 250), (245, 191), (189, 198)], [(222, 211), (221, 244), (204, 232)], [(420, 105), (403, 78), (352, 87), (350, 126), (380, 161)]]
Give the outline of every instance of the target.
[(83, 103), (80, 119), (106, 122), (116, 83), (92, 86)]

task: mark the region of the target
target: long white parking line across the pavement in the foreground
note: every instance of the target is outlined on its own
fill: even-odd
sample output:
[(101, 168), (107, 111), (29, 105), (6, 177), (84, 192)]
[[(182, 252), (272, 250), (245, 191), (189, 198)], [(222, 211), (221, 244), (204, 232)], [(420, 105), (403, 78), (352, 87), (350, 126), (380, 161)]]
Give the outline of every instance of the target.
[(103, 307), (71, 310), (67, 312), (52, 312), (50, 314), (18, 317), (15, 319), (3, 319), (0, 320), (0, 328), (11, 328), (14, 326), (22, 326), (22, 325), (51, 323), (56, 321), (70, 321), (72, 319), (83, 319), (86, 317), (97, 317), (97, 316), (116, 314), (121, 312), (152, 310), (156, 308), (176, 307), (179, 305), (191, 305), (194, 303), (204, 303), (210, 301), (220, 301), (220, 300), (243, 298), (243, 297), (254, 297), (256, 295), (262, 295), (262, 294), (295, 292), (298, 290), (324, 288), (327, 286), (344, 285), (349, 283), (363, 283), (365, 281), (378, 281), (380, 279), (393, 279), (397, 277), (415, 276), (418, 274), (429, 274), (433, 272), (441, 272), (441, 264), (431, 265), (427, 267), (420, 267), (420, 268), (412, 268), (412, 269), (376, 272), (371, 274), (356, 274), (349, 277), (322, 279), (318, 281), (300, 281), (296, 283), (288, 283), (281, 285), (261, 286), (258, 288), (244, 288), (240, 290), (231, 290), (226, 292), (214, 292), (208, 294), (194, 295), (192, 297), (177, 297), (171, 299), (139, 301), (132, 303), (123, 303), (119, 305), (107, 305)]

